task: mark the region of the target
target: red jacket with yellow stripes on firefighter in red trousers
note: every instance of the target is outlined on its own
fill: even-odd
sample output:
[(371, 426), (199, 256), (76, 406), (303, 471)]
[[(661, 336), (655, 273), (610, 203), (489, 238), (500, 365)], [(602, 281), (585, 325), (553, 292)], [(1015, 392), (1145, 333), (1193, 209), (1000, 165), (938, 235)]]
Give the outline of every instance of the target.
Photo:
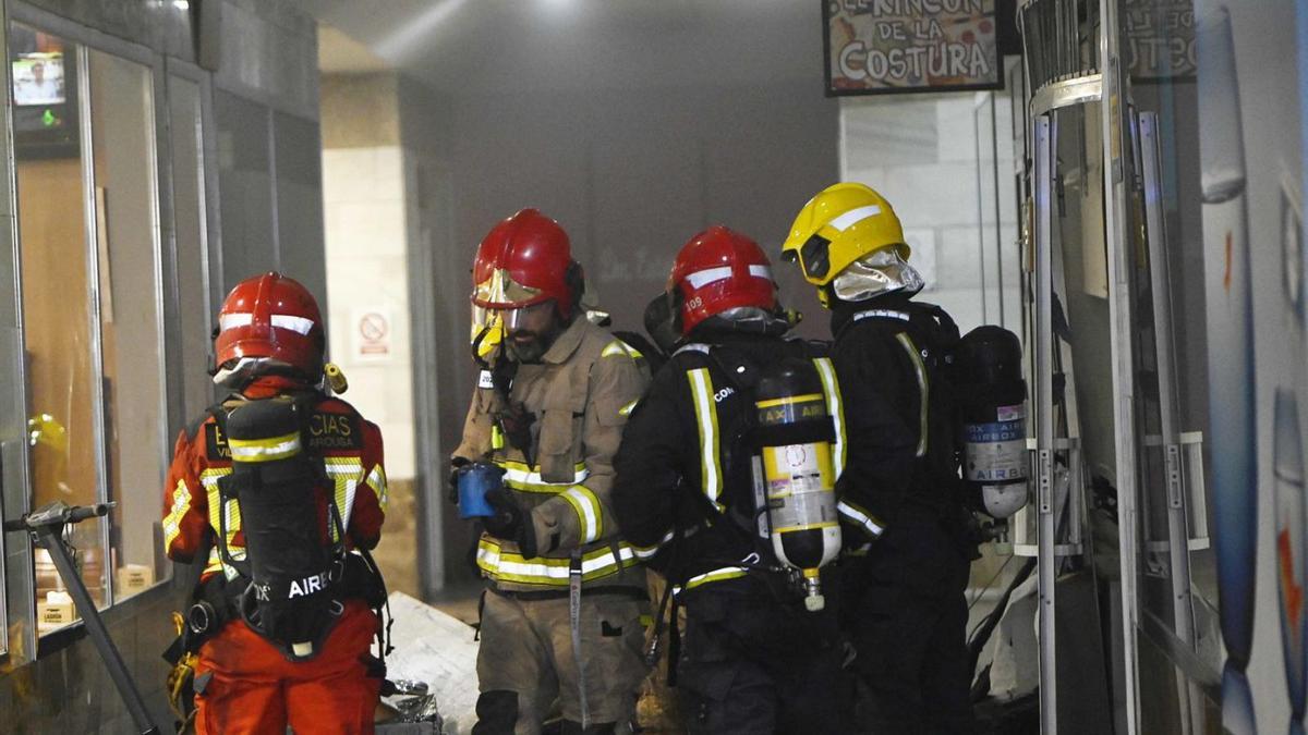
[[(307, 390), (311, 388), (296, 381), (264, 377), (251, 383), (242, 395), (254, 400)], [(224, 405), (230, 409), (239, 400), (237, 396)], [(322, 456), (323, 468), (334, 484), (330, 492), (345, 527), (345, 547), (374, 548), (381, 540), (387, 500), (381, 430), (344, 400), (324, 398), (310, 416), (309, 449)], [(192, 561), (207, 528), (212, 527), (217, 539), (220, 514), (226, 515), (226, 540), (233, 558), (239, 561), (245, 557), (241, 504), (235, 500), (224, 504), (218, 494), (218, 479), (230, 473), (232, 453), (212, 415), (205, 415), (178, 436), (164, 489), (164, 547), (170, 558)], [(318, 517), (326, 543), (335, 538), (336, 530), (327, 511), (328, 489), (320, 490)], [(229, 579), (237, 574), (234, 568), (222, 562), (215, 543), (204, 575), (218, 570)]]

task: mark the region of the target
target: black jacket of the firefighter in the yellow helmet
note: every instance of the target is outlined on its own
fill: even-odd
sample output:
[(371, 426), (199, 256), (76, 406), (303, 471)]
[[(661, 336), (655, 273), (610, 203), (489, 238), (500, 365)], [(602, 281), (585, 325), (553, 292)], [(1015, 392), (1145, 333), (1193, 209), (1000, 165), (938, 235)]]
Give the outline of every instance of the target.
[(865, 540), (895, 524), (905, 504), (942, 514), (961, 507), (944, 369), (952, 345), (942, 344), (950, 330), (957, 340), (957, 330), (952, 322), (939, 324), (931, 310), (891, 294), (838, 303), (832, 313), (832, 362), (845, 386), (850, 439), (841, 510), (850, 521), (845, 532)]

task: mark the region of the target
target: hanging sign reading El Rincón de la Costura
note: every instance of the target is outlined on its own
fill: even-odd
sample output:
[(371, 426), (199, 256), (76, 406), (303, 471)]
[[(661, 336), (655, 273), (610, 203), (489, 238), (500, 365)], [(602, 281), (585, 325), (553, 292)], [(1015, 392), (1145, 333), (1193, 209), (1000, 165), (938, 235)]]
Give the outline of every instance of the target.
[(995, 0), (824, 0), (827, 94), (999, 89)]

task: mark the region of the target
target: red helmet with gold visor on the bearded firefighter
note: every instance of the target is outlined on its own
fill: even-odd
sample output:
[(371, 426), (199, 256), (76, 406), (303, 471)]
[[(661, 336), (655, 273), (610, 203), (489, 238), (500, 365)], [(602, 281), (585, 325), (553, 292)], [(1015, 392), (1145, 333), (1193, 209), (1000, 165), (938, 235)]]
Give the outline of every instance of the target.
[(555, 299), (564, 319), (581, 298), (581, 267), (559, 222), (523, 209), (500, 222), (477, 247), (472, 262), (472, 303), (483, 309), (521, 309)]

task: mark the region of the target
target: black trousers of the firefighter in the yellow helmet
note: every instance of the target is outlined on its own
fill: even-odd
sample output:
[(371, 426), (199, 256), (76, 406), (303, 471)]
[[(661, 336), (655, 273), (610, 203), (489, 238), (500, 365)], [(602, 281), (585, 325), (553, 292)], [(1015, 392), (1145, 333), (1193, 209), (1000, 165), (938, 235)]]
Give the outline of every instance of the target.
[(912, 509), (849, 566), (846, 633), (858, 723), (870, 732), (973, 732), (967, 650), (971, 557), (960, 530)]

